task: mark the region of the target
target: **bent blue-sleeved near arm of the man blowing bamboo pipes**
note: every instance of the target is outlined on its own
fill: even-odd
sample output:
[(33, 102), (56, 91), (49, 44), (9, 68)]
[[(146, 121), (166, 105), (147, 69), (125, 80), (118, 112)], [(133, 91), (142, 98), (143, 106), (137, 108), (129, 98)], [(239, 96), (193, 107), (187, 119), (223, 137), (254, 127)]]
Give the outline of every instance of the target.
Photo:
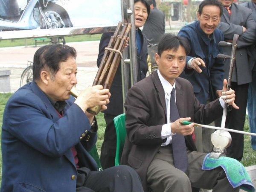
[(12, 99), (7, 107), (8, 131), (49, 157), (61, 157), (79, 143), (85, 131), (90, 131), (90, 122), (76, 104), (71, 105), (56, 122), (50, 119), (49, 114), (43, 113), (41, 105), (44, 104), (29, 95)]

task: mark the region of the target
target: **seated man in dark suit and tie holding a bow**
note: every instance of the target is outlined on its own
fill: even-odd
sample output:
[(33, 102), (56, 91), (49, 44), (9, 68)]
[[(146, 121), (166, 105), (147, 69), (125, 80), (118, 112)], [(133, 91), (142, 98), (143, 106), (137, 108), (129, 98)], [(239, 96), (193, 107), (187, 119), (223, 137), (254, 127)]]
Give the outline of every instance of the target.
[[(178, 77), (188, 52), (186, 39), (164, 35), (157, 48), (158, 70), (129, 90), (125, 101), (127, 137), (121, 163), (137, 171), (145, 192), (147, 186), (157, 192), (189, 192), (191, 186), (238, 192), (222, 168), (201, 170), (206, 154), (196, 151), (191, 137), (194, 125), (180, 124), (180, 120), (212, 122), (221, 116), (224, 105), (222, 98), (200, 104), (192, 84)], [(225, 91), (226, 84), (225, 80), (222, 97), (238, 108), (234, 91)]]

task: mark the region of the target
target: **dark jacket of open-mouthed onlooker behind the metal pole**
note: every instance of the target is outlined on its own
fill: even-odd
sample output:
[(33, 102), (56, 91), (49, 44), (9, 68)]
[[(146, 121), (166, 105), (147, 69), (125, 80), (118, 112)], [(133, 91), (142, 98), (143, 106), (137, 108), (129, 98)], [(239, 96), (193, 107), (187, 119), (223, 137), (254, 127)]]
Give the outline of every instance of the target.
[[(137, 81), (140, 81), (141, 79), (144, 79), (146, 77), (146, 73), (148, 70), (148, 63), (147, 63), (147, 56), (148, 56), (148, 48), (147, 48), (147, 39), (145, 38), (145, 35), (139, 30), (140, 36), (142, 37), (142, 48), (140, 51), (140, 54), (137, 54), (137, 64), (138, 64), (138, 79)], [(102, 57), (104, 55), (105, 47), (108, 46), (108, 42), (113, 35), (112, 32), (103, 33), (100, 43), (99, 43), (99, 55), (97, 59), (97, 66), (99, 67)], [(119, 64), (116, 75), (113, 79), (113, 83), (110, 87), (110, 103), (108, 104), (108, 109), (103, 111), (103, 113), (109, 114), (109, 115), (119, 115), (123, 113), (123, 100), (122, 100), (122, 73), (121, 73), (121, 64)]]

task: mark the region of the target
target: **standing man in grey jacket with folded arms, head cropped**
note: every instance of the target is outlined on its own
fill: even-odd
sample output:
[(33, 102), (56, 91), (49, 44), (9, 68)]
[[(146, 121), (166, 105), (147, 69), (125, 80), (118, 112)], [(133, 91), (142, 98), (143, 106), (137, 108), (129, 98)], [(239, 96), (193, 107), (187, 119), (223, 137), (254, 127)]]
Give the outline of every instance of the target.
[[(223, 32), (225, 41), (232, 42), (233, 35), (238, 34), (239, 39), (236, 49), (236, 60), (233, 67), (231, 87), (236, 91), (236, 103), (239, 110), (231, 110), (227, 113), (227, 128), (242, 131), (244, 129), (248, 86), (252, 82), (251, 46), (256, 42), (256, 23), (253, 20), (252, 11), (247, 7), (233, 3), (234, 0), (221, 0), (223, 15), (218, 28)], [(230, 47), (223, 47), (223, 53), (231, 54)], [(230, 60), (224, 61), (224, 78), (227, 79)], [(230, 133), (233, 142), (227, 148), (227, 156), (241, 160), (244, 151), (244, 135)]]

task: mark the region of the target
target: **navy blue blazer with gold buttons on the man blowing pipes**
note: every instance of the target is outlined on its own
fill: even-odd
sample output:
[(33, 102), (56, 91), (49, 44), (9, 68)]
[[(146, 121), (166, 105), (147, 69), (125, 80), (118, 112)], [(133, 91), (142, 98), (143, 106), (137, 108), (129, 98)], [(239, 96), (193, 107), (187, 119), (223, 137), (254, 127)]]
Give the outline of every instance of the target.
[(77, 175), (73, 146), (79, 166), (97, 170), (87, 152), (96, 143), (97, 134), (90, 132), (90, 122), (73, 104), (74, 98), (66, 102), (60, 119), (35, 82), (24, 85), (8, 100), (2, 126), (1, 192), (76, 191), (76, 179), (71, 179)]

